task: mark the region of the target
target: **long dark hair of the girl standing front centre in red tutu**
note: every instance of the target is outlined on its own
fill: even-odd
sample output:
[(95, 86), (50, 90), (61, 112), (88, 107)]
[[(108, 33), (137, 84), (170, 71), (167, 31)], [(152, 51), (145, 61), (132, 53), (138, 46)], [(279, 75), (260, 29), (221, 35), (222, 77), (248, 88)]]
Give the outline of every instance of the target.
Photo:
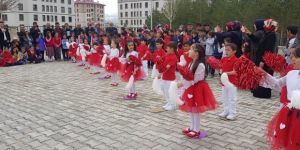
[(198, 58), (194, 61), (192, 65), (192, 71), (193, 73), (196, 72), (198, 66), (200, 63), (203, 63), (205, 65), (205, 49), (202, 45), (199, 43), (195, 43), (191, 46), (191, 49), (195, 51), (195, 53), (198, 53)]

